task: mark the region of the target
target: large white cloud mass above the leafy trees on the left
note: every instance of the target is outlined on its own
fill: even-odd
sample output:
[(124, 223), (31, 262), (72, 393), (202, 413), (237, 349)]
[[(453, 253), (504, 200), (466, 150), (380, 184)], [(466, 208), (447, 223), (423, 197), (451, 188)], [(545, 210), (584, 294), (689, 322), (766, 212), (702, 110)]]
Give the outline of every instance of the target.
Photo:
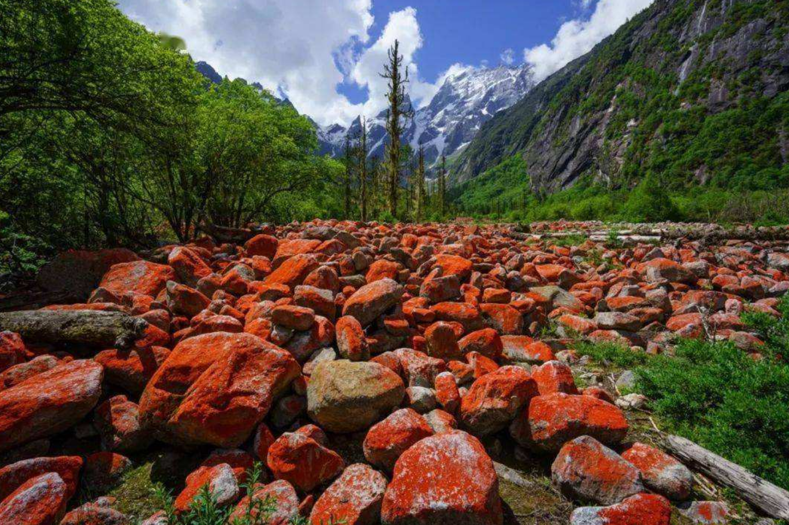
[[(119, 0), (151, 31), (185, 39), (195, 60), (222, 75), (285, 93), (323, 123), (361, 110), (337, 92), (353, 67), (353, 47), (368, 42), (372, 0)], [(343, 71), (345, 69), (345, 71)]]

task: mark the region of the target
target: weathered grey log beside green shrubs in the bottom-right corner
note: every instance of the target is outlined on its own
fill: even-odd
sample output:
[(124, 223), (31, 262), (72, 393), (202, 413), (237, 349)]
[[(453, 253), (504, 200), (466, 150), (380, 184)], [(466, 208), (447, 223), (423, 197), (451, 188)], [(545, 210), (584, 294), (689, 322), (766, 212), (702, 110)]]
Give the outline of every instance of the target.
[(664, 435), (662, 445), (691, 469), (735, 490), (753, 508), (776, 519), (789, 519), (789, 492), (753, 475), (738, 464), (674, 435)]

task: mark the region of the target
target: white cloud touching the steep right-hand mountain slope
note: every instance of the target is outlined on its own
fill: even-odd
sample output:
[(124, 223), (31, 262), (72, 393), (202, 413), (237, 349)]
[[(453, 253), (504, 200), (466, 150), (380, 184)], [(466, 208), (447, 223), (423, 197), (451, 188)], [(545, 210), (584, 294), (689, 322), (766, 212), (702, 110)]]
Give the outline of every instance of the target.
[[(590, 6), (592, 0), (582, 0)], [(653, 0), (599, 0), (588, 20), (569, 20), (562, 24), (550, 45), (525, 49), (523, 58), (534, 66), (537, 81), (563, 68), (568, 62), (588, 53), (600, 40), (615, 32), (630, 17), (649, 7)]]

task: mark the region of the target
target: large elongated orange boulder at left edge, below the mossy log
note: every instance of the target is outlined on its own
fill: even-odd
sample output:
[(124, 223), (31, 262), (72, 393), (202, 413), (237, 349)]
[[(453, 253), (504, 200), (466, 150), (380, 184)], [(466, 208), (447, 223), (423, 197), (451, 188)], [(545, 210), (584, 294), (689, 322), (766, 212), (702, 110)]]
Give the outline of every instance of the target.
[(0, 392), (0, 452), (73, 426), (99, 401), (103, 377), (99, 363), (78, 360)]

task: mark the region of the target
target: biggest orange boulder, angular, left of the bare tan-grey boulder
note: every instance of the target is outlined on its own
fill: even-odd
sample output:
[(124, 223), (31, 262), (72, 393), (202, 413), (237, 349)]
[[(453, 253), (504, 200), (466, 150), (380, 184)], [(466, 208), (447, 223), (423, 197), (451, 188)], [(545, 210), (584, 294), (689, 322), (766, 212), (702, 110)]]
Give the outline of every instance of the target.
[(191, 337), (156, 370), (140, 415), (166, 441), (236, 447), (300, 372), (289, 352), (249, 333)]

